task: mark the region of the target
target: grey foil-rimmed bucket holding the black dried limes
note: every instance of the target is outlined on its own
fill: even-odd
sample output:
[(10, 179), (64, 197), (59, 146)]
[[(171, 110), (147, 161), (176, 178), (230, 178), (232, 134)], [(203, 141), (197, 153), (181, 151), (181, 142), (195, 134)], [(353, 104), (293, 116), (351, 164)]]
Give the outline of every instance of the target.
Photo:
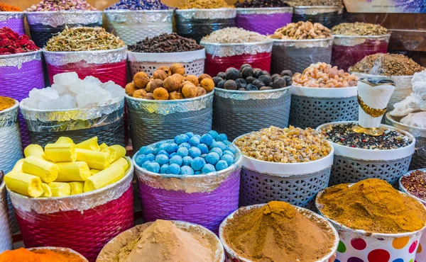
[(229, 139), (262, 128), (288, 127), (291, 86), (265, 91), (214, 89), (214, 130)]

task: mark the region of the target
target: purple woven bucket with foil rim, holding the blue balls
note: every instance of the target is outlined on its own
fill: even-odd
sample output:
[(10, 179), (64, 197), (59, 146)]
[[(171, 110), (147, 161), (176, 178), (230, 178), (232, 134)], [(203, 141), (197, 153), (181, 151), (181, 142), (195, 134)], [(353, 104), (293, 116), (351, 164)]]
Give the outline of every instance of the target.
[[(170, 140), (171, 141), (171, 140)], [(229, 168), (209, 175), (175, 176), (152, 173), (133, 164), (138, 177), (144, 222), (181, 220), (207, 227), (215, 234), (220, 223), (238, 209), (241, 153)]]

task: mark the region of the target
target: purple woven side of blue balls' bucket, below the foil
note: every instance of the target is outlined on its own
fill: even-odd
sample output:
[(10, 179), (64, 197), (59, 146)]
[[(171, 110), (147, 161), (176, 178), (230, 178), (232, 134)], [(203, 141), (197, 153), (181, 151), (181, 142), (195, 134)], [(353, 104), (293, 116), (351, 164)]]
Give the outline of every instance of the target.
[(182, 190), (152, 188), (139, 178), (143, 221), (181, 220), (200, 224), (218, 234), (220, 223), (238, 209), (239, 173), (240, 169), (231, 173), (211, 193), (185, 193)]

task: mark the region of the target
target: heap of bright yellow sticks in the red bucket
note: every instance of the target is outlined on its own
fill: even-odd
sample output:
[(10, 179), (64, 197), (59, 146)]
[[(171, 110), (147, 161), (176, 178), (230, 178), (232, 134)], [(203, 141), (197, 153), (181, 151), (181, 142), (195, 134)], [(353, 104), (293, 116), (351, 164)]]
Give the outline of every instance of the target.
[(75, 144), (60, 137), (54, 144), (30, 144), (25, 158), (4, 176), (6, 187), (31, 198), (78, 195), (103, 188), (124, 177), (130, 164), (126, 149), (98, 144), (92, 137)]

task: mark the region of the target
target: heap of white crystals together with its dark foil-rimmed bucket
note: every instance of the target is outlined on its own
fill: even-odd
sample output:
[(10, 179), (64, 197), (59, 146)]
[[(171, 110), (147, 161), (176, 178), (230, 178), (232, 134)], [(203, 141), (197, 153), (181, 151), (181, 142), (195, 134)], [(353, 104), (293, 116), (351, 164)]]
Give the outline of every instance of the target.
[(112, 81), (79, 79), (69, 72), (53, 76), (53, 85), (33, 89), (20, 105), (32, 143), (71, 137), (82, 142), (98, 136), (101, 143), (124, 145), (124, 95)]

